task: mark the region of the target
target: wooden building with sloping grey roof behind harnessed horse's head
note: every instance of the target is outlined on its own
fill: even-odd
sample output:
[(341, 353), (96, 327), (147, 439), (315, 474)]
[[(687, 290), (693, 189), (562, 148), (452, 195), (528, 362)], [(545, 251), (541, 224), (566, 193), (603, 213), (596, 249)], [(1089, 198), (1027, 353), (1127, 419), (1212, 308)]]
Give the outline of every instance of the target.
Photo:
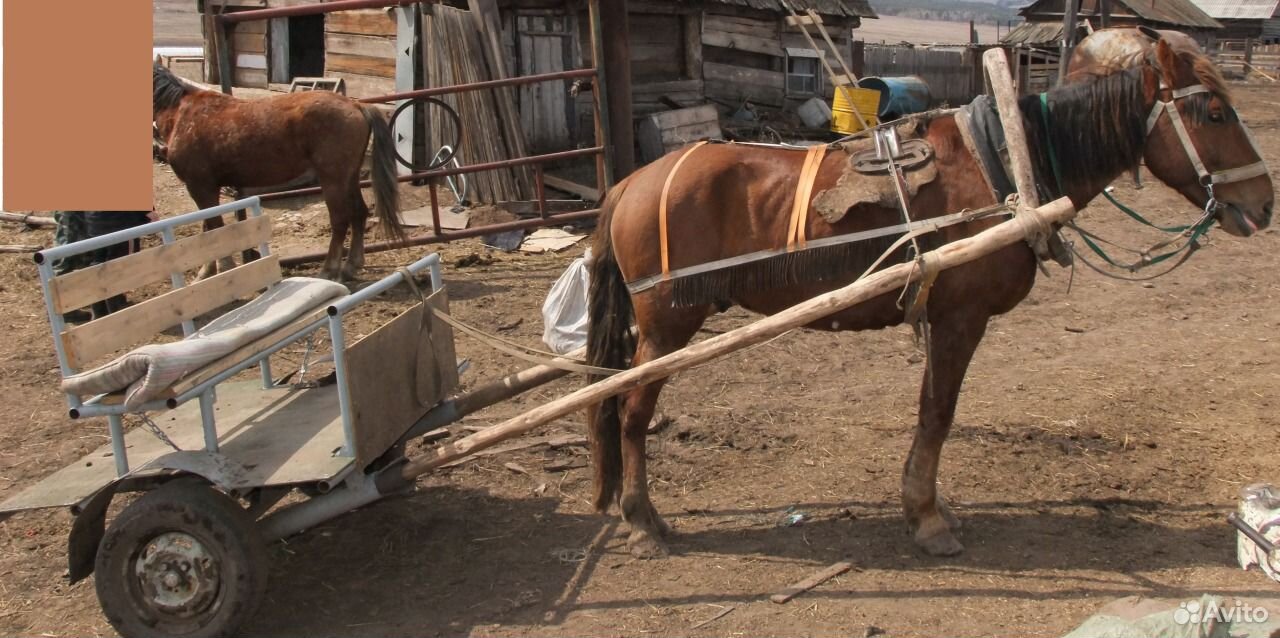
[[(1062, 41), (1062, 15), (1066, 0), (1037, 0), (1018, 13), (1027, 22), (1000, 38), (1006, 45), (1057, 46)], [(1080, 0), (1080, 37), (1089, 29), (1102, 28), (1101, 0)], [(1088, 26), (1085, 26), (1088, 23)], [(1112, 27), (1147, 26), (1174, 29), (1208, 40), (1220, 28), (1193, 0), (1111, 0)]]

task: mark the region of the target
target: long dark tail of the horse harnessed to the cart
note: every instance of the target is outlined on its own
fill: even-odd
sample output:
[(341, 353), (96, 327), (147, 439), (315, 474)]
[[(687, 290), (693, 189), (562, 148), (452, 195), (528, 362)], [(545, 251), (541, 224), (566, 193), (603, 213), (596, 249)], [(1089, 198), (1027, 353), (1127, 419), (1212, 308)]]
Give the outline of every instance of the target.
[[(613, 210), (622, 199), (627, 181), (609, 191), (600, 206), (600, 224), (591, 249), (591, 290), (588, 299), (586, 360), (590, 365), (622, 369), (635, 354), (631, 336), (631, 293), (622, 281), (609, 227)], [(594, 383), (603, 377), (589, 377)], [(588, 407), (586, 423), (591, 441), (591, 464), (595, 468), (595, 509), (602, 514), (618, 500), (622, 487), (622, 420), (621, 398), (614, 396)]]

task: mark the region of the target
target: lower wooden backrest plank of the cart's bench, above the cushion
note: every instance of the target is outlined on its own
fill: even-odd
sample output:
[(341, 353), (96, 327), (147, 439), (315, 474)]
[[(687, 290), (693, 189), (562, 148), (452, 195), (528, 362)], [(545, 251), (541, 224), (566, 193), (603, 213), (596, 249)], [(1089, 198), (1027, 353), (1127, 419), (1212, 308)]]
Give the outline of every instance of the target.
[(72, 368), (81, 369), (102, 355), (150, 339), (166, 328), (216, 310), (278, 281), (280, 259), (271, 255), (186, 288), (169, 291), (63, 332), (67, 359)]

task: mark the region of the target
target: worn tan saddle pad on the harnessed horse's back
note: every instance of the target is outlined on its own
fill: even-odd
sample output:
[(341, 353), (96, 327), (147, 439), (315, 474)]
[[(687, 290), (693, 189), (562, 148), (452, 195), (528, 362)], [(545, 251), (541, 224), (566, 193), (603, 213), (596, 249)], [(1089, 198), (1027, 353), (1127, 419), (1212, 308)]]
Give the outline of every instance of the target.
[[(908, 199), (915, 197), (922, 186), (938, 177), (933, 147), (923, 138), (925, 126), (924, 118), (910, 118), (896, 127), (902, 152), (895, 161), (902, 169)], [(836, 186), (814, 197), (814, 210), (828, 224), (835, 224), (850, 209), (861, 204), (896, 209), (897, 190), (893, 188), (887, 163), (877, 159), (874, 137), (854, 138), (840, 146), (849, 155), (849, 163)], [(906, 204), (910, 208), (910, 202)]]

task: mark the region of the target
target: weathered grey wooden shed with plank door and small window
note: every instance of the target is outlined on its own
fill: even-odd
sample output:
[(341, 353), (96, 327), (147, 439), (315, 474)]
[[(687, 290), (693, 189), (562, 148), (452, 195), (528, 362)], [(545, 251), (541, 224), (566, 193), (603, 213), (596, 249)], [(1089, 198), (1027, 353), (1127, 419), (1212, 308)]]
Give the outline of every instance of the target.
[[(867, 0), (790, 0), (812, 8), (846, 64), (852, 29), (876, 18)], [(590, 67), (585, 3), (580, 0), (499, 0), (509, 68), (521, 76)], [(795, 109), (814, 96), (831, 97), (818, 58), (829, 56), (787, 24), (781, 0), (630, 0), (631, 95), (634, 114), (716, 104), (733, 111), (744, 102)], [(829, 60), (840, 68), (835, 60)], [(570, 95), (549, 85), (526, 86), (518, 104), (526, 136), (538, 150), (568, 149), (590, 140), (591, 96)]]

